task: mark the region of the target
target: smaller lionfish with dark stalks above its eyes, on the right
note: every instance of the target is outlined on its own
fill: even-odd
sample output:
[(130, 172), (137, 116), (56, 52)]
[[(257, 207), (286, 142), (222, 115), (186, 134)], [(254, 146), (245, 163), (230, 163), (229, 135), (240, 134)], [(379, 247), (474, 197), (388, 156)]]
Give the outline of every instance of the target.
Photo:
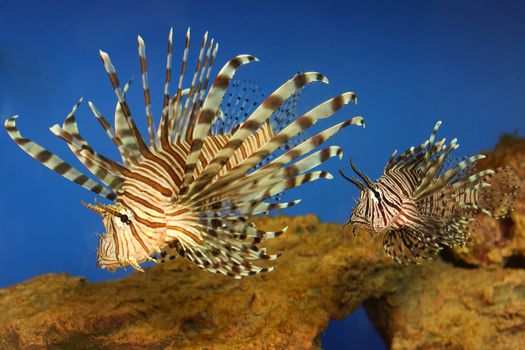
[[(417, 263), (430, 259), (443, 246), (465, 246), (479, 212), (506, 216), (519, 189), (519, 178), (510, 168), (475, 172), (484, 155), (451, 161), (459, 147), (456, 139), (434, 142), (430, 138), (398, 155), (394, 151), (383, 175), (372, 182), (350, 160), (364, 181), (341, 175), (360, 190), (360, 198), (347, 224), (382, 235), (383, 248), (396, 262)], [(449, 164), (447, 165), (447, 162)]]

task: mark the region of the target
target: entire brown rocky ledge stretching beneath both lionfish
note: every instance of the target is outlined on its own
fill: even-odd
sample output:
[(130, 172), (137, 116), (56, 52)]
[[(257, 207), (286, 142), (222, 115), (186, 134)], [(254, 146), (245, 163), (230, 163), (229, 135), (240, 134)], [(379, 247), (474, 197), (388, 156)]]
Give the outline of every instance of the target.
[[(523, 179), (525, 141), (511, 139), (487, 164), (508, 159)], [(176, 259), (113, 282), (39, 276), (0, 289), (0, 348), (311, 349), (330, 319), (364, 303), (393, 349), (521, 349), (523, 192), (508, 220), (482, 225), (489, 239), (417, 266), (310, 215), (257, 220), (289, 226), (266, 244), (283, 252), (267, 275), (237, 281)]]

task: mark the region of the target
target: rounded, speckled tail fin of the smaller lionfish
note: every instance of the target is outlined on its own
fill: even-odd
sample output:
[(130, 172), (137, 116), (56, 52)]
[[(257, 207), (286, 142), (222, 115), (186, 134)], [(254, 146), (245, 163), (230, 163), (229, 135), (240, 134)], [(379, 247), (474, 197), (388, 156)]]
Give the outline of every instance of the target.
[(514, 198), (519, 192), (521, 179), (510, 167), (496, 169), (485, 180), (489, 187), (479, 189), (478, 204), (483, 212), (495, 218), (509, 215)]

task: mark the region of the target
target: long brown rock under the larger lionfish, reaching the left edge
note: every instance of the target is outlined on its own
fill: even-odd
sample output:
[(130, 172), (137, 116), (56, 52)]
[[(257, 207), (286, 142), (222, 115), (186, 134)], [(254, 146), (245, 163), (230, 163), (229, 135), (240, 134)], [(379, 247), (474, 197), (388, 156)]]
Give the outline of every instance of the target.
[[(241, 281), (183, 259), (105, 283), (44, 275), (0, 290), (0, 348), (310, 349), (331, 318), (393, 291), (405, 269), (366, 235), (315, 216), (259, 220), (279, 229), (272, 273)], [(285, 248), (285, 249), (284, 249)]]

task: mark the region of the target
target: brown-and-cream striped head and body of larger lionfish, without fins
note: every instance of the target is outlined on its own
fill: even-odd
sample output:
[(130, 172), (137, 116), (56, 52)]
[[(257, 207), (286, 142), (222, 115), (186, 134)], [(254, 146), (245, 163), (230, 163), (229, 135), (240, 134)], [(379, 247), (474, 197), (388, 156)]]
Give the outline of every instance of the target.
[[(197, 163), (196, 176), (213, 159), (220, 147), (226, 144), (228, 136), (217, 135), (206, 139)], [(267, 124), (246, 140), (245, 147), (235, 152), (217, 176), (224, 175), (271, 136), (272, 131)], [(135, 257), (137, 262), (143, 262), (156, 253), (156, 248), (164, 250), (172, 241), (181, 241), (190, 246), (202, 243), (201, 236), (205, 231), (203, 223), (199, 222), (200, 211), (192, 210), (191, 203), (186, 206), (178, 201), (184, 175), (182, 170), (190, 145), (188, 142), (178, 142), (172, 148), (172, 152), (153, 150), (153, 160), (145, 160), (130, 168), (117, 192), (116, 203), (131, 223), (123, 224), (119, 217), (108, 216), (111, 225), (119, 229), (111, 230), (114, 232), (112, 239), (108, 240), (107, 245), (99, 246), (99, 265), (116, 268), (128, 256)]]

